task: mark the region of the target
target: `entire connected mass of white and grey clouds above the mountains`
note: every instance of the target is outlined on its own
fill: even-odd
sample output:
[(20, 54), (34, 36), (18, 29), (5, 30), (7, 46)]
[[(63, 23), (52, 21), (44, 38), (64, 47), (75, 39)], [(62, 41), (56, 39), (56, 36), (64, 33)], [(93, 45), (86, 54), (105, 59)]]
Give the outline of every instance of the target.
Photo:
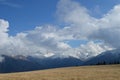
[[(41, 58), (73, 56), (84, 60), (106, 50), (119, 48), (120, 5), (114, 6), (100, 19), (90, 16), (88, 11), (73, 0), (60, 0), (56, 14), (64, 24), (63, 28), (37, 26), (34, 30), (17, 33), (16, 36), (7, 33), (9, 22), (0, 19), (0, 54)], [(88, 40), (88, 43), (73, 48), (66, 40)]]

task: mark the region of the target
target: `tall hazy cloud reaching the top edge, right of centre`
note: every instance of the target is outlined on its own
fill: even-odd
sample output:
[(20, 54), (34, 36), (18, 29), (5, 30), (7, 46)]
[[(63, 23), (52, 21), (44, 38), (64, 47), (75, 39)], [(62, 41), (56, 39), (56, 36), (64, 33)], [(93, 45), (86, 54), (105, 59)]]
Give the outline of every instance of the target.
[[(73, 0), (60, 0), (57, 15), (70, 28), (65, 32), (77, 39), (86, 39), (97, 29), (97, 19), (88, 14), (88, 10)], [(67, 33), (68, 32), (68, 33)]]

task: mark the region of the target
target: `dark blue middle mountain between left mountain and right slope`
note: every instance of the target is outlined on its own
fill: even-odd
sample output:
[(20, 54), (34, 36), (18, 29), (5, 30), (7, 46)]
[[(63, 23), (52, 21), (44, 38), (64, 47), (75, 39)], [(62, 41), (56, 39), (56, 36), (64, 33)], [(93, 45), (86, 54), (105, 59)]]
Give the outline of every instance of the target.
[(37, 59), (34, 57), (29, 57), (29, 60), (41, 63), (44, 68), (59, 68), (59, 67), (69, 67), (69, 66), (78, 66), (83, 63), (80, 59), (74, 57), (68, 58), (44, 58), (44, 59)]

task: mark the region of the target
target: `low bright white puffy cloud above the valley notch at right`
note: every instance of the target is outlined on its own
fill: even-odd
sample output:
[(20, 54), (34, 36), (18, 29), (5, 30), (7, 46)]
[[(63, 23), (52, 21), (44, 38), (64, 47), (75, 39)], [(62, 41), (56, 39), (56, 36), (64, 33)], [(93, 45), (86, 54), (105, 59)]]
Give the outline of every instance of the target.
[(104, 45), (103, 43), (94, 43), (93, 41), (89, 41), (87, 44), (82, 44), (78, 48), (71, 48), (62, 55), (64, 56), (73, 56), (82, 60), (89, 59), (91, 57), (97, 56), (98, 54), (106, 51), (112, 50), (113, 48)]

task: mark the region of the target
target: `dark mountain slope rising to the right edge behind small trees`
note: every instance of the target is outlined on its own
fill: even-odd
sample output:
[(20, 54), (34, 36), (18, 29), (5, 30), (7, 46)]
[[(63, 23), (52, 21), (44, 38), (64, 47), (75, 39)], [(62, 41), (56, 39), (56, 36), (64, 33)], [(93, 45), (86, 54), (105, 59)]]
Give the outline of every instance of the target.
[(87, 60), (84, 65), (120, 63), (120, 49), (110, 50)]

